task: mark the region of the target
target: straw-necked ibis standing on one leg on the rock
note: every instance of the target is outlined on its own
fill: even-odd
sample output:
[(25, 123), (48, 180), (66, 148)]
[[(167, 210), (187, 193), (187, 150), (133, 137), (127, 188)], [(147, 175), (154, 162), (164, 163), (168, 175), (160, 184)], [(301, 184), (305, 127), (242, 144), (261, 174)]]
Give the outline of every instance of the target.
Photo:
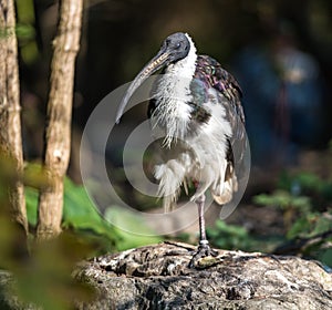
[[(199, 244), (190, 260), (217, 256), (209, 246), (205, 225), (206, 192), (225, 205), (238, 190), (237, 163), (247, 147), (241, 89), (237, 80), (211, 56), (197, 54), (188, 33), (168, 35), (157, 54), (141, 70), (125, 92), (115, 117), (143, 82), (163, 69), (148, 104), (151, 127), (164, 138), (156, 152), (163, 157), (154, 167), (158, 196), (166, 211), (177, 203), (180, 188), (198, 207)], [(238, 149), (235, 154), (235, 149)]]

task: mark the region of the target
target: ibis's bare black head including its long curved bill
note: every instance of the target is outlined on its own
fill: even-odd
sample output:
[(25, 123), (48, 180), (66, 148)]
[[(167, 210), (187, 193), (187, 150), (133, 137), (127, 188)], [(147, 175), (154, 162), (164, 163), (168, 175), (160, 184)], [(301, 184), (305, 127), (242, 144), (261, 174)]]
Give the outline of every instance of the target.
[(159, 69), (185, 59), (189, 53), (191, 45), (190, 42), (191, 39), (189, 35), (183, 32), (176, 32), (166, 38), (159, 52), (142, 69), (126, 91), (117, 108), (116, 123), (120, 122), (131, 96), (142, 85), (142, 83)]

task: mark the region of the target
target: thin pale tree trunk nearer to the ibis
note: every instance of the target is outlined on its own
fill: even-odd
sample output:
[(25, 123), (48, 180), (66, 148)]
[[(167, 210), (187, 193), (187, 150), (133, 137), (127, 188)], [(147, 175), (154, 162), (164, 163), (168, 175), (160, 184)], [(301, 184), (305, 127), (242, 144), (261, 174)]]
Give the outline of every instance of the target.
[(80, 49), (82, 10), (83, 0), (60, 0), (45, 128), (44, 167), (49, 185), (41, 189), (39, 198), (39, 240), (61, 232), (63, 178), (70, 158), (74, 71)]

